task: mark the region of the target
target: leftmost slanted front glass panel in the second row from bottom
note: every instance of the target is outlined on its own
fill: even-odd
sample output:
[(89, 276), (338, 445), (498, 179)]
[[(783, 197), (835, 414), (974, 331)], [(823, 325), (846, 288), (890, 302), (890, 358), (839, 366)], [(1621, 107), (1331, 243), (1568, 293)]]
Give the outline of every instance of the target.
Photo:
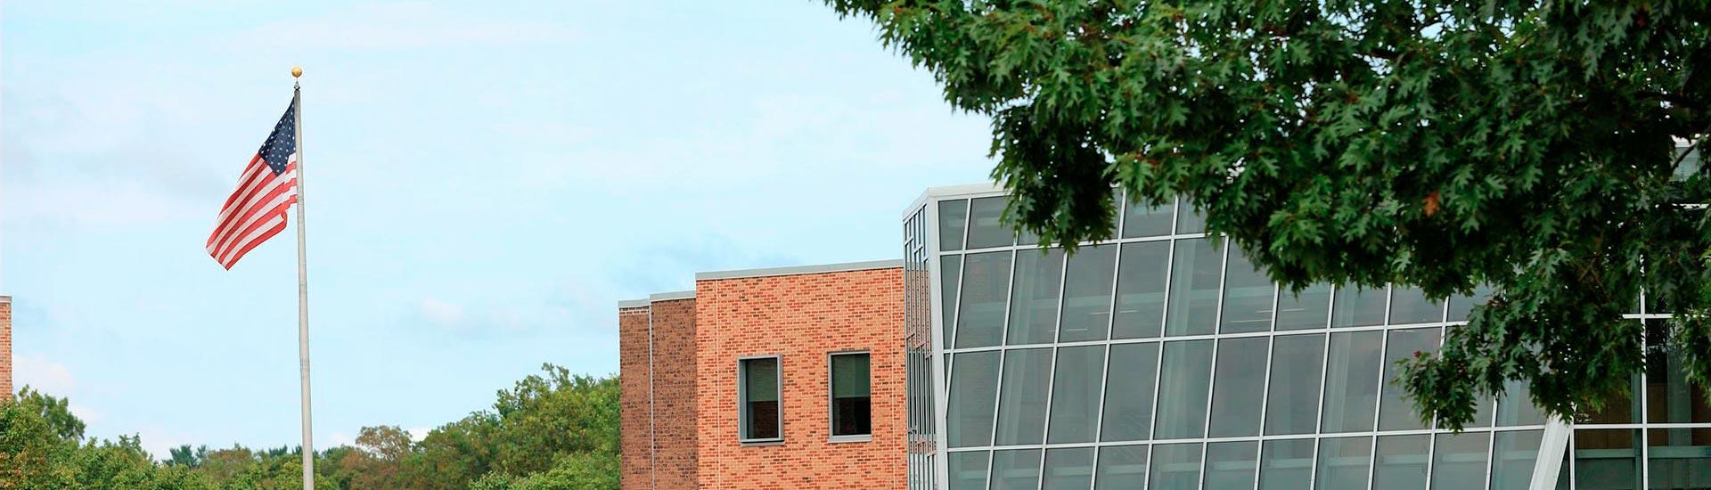
[(951, 447), (992, 444), (992, 403), (998, 401), (998, 351), (953, 356), (944, 440)]

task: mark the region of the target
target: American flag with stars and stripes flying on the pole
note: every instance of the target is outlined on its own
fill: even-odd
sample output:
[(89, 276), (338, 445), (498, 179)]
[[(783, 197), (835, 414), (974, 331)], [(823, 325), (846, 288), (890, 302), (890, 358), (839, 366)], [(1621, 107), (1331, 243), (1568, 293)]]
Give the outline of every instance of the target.
[(231, 269), (252, 248), (286, 230), (286, 209), (298, 202), (298, 99), (274, 125), (238, 178), (209, 235), (209, 255)]

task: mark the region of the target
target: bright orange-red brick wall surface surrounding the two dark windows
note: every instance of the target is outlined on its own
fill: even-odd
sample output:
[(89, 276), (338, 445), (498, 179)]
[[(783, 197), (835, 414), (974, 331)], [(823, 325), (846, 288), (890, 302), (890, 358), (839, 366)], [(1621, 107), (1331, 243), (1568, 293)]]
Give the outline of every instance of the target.
[[(905, 488), (902, 269), (695, 286), (702, 488)], [(873, 353), (873, 440), (830, 444), (826, 353), (852, 350)], [(737, 442), (736, 365), (753, 355), (780, 355), (782, 444)]]

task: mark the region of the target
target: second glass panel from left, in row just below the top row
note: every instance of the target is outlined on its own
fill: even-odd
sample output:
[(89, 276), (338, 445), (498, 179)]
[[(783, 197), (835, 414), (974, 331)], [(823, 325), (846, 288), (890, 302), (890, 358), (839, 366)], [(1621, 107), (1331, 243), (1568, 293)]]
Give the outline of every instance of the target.
[(1018, 250), (1009, 286), (1006, 344), (1047, 344), (1057, 338), (1057, 293), (1063, 291), (1064, 250)]

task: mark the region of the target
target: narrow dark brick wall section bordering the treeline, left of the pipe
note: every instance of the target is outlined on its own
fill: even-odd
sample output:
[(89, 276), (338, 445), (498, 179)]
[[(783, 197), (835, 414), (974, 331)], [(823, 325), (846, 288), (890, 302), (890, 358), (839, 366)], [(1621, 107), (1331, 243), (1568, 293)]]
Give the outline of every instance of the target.
[(648, 420), (648, 307), (618, 308), (618, 447), (623, 488), (650, 488), (654, 469)]

